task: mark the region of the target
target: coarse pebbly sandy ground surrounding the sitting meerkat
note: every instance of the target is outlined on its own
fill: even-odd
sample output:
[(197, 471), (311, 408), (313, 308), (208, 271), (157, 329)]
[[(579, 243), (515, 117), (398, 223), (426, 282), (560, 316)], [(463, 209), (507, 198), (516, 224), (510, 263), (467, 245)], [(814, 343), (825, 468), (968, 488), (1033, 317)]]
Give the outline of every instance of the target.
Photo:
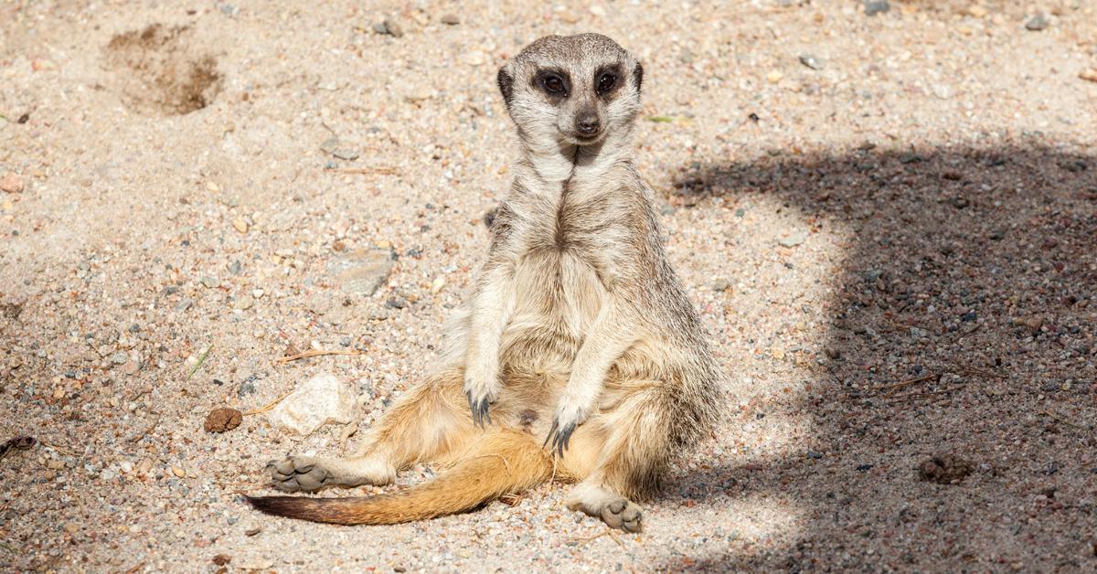
[[(1094, 571), (1097, 2), (890, 8), (0, 0), (0, 440), (38, 441), (0, 461), (4, 569)], [(354, 437), (205, 415), (331, 372), (376, 420), (507, 189), (495, 70), (591, 30), (646, 67), (638, 166), (726, 425), (642, 534), (563, 485), (394, 527), (250, 510), (268, 459)], [(393, 270), (347, 294), (365, 248)]]

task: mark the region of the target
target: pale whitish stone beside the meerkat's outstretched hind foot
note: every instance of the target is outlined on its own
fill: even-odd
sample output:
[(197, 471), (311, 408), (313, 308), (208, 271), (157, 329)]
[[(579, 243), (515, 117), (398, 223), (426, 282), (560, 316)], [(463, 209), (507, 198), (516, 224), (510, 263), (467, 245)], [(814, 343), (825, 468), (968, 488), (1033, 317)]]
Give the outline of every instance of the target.
[(329, 423), (350, 423), (355, 402), (350, 384), (333, 374), (321, 373), (305, 381), (271, 409), (267, 418), (276, 428), (310, 435)]

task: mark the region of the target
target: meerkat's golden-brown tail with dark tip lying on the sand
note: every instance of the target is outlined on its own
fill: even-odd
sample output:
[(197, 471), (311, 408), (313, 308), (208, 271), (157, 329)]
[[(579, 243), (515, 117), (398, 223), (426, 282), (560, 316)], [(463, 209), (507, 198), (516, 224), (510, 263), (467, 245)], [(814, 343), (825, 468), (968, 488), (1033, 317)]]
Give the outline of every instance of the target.
[(380, 496), (313, 498), (248, 497), (263, 513), (336, 525), (395, 525), (472, 510), (506, 494), (541, 484), (552, 461), (529, 435), (488, 430), (437, 479)]

